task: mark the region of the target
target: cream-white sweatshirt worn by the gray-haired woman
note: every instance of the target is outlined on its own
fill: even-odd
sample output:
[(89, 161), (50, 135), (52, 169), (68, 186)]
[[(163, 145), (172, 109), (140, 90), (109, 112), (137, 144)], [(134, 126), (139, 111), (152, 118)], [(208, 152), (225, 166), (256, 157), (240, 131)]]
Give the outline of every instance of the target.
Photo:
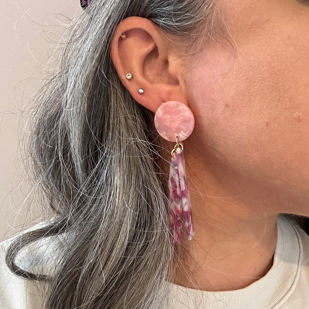
[[(33, 228), (42, 225), (43, 222)], [(284, 214), (278, 216), (277, 226), (273, 266), (264, 277), (243, 289), (217, 292), (167, 282), (171, 290), (163, 309), (309, 309), (309, 236)], [(0, 244), (0, 309), (41, 309), (44, 299), (40, 291), (47, 284), (10, 272), (4, 258), (11, 240)], [(44, 265), (55, 254), (49, 240), (44, 242), (39, 251), (25, 248), (17, 259), (18, 265), (48, 273), (50, 270)]]

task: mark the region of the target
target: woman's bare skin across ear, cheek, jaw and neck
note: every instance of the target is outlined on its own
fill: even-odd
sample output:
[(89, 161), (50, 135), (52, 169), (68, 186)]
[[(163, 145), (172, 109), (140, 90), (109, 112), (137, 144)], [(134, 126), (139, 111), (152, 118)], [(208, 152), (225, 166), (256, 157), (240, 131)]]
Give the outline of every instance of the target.
[[(171, 43), (179, 38), (138, 17), (124, 19), (111, 44), (134, 99), (153, 112), (177, 100), (195, 116), (184, 141), (195, 237), (183, 231), (191, 257), (180, 253), (173, 282), (209, 291), (263, 277), (277, 215), (309, 216), (308, 2), (226, 0), (217, 10), (230, 43), (214, 29), (194, 57), (180, 56)], [(166, 159), (174, 144), (162, 141)]]

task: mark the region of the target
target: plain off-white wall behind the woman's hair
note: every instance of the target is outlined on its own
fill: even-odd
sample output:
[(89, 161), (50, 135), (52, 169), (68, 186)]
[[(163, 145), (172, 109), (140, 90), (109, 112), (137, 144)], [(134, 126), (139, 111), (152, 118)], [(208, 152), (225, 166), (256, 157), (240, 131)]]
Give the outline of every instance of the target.
[[(67, 17), (83, 13), (79, 0), (3, 0), (0, 10), (0, 241), (12, 235), (39, 207), (22, 203), (29, 192), (21, 183), (20, 110), (39, 89), (44, 66), (59, 46)], [(26, 105), (25, 105), (26, 104)], [(32, 220), (29, 220), (31, 224)]]

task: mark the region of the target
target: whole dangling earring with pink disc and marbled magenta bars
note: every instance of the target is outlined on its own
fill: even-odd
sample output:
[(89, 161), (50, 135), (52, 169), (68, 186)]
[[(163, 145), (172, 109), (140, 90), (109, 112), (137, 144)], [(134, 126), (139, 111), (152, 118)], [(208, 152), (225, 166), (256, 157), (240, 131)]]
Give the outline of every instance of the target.
[(194, 116), (191, 109), (181, 102), (162, 102), (155, 113), (155, 127), (164, 139), (170, 142), (176, 141), (176, 145), (171, 151), (167, 197), (172, 209), (175, 210), (175, 212), (169, 211), (172, 240), (175, 244), (179, 244), (182, 239), (182, 220), (180, 218), (182, 212), (184, 213), (188, 239), (192, 240), (194, 236), (192, 208), (185, 170), (184, 145), (179, 143), (192, 133)]

